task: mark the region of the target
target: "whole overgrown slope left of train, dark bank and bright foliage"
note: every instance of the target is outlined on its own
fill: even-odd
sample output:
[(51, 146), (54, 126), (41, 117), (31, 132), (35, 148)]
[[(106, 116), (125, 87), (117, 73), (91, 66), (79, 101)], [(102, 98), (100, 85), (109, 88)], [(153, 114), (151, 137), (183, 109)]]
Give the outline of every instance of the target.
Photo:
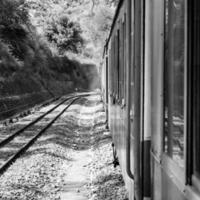
[(0, 96), (89, 88), (97, 80), (95, 65), (72, 58), (99, 62), (115, 3), (1, 0)]

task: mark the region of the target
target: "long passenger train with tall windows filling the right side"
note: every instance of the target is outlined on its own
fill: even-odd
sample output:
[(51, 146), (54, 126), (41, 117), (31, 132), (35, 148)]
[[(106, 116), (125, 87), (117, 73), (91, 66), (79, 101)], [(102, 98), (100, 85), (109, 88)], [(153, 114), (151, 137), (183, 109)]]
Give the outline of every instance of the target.
[(200, 199), (200, 3), (121, 0), (105, 45), (108, 125), (129, 199)]

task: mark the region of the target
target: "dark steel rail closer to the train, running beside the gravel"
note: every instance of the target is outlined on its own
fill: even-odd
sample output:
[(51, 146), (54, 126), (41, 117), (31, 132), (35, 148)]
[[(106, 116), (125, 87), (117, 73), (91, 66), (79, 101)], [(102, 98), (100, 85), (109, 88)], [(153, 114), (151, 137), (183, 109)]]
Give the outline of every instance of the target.
[[(69, 102), (69, 104), (58, 115), (56, 115), (56, 117), (53, 120), (50, 121), (50, 123), (48, 123), (42, 130), (40, 130), (34, 137), (32, 137), (29, 140), (29, 142), (27, 142), (24, 146), (22, 146), (22, 148), (20, 148), (13, 156), (11, 156), (8, 160), (6, 160), (3, 165), (0, 166), (0, 174), (3, 174), (3, 172), (5, 172), (6, 169), (8, 169), (8, 167), (17, 158), (19, 158), (75, 101), (77, 101), (83, 96), (89, 96), (89, 94), (80, 95), (78, 97), (71, 97), (72, 98), (71, 102)], [(68, 100), (70, 100), (71, 98), (69, 97)]]

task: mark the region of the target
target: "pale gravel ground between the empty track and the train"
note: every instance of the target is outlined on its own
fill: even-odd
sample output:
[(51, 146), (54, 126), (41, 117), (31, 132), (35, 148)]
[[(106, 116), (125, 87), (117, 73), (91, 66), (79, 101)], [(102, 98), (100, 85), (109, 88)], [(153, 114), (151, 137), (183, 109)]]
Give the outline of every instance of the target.
[(127, 200), (105, 122), (100, 95), (77, 101), (0, 176), (0, 199)]

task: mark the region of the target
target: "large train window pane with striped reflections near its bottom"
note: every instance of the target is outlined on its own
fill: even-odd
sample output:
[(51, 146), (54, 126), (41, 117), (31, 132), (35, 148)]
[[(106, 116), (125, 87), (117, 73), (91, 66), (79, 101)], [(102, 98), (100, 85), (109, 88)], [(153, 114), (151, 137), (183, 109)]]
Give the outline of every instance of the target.
[(165, 0), (164, 151), (184, 166), (185, 1)]

